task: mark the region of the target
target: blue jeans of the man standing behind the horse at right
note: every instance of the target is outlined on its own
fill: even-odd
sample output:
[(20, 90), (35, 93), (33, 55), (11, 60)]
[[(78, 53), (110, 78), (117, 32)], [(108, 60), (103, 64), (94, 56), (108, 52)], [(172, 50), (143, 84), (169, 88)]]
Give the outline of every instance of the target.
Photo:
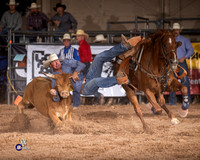
[[(188, 66), (187, 66), (187, 63), (186, 63), (186, 60), (183, 62), (183, 63), (179, 63), (179, 65), (181, 67), (183, 67), (186, 71), (187, 71), (187, 75), (181, 79), (181, 83), (187, 87), (187, 90), (188, 90), (188, 101), (190, 102), (191, 101), (191, 96), (190, 96), (190, 81), (189, 81), (189, 78), (188, 78)], [(183, 70), (180, 69), (180, 72), (178, 73), (178, 75), (181, 75), (183, 73)], [(170, 105), (176, 105), (176, 92), (170, 92), (169, 94), (169, 104)]]

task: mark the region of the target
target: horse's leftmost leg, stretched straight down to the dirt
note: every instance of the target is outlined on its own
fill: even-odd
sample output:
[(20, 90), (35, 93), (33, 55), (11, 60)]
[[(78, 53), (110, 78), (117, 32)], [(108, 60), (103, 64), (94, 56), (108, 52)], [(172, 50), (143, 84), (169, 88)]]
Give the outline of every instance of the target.
[(127, 85), (122, 85), (122, 86), (126, 91), (126, 95), (128, 96), (128, 99), (133, 104), (135, 113), (140, 118), (140, 120), (143, 124), (144, 131), (152, 132), (143, 119), (142, 111), (141, 111), (140, 105), (138, 103), (137, 96), (136, 96), (135, 92), (131, 88), (129, 88)]

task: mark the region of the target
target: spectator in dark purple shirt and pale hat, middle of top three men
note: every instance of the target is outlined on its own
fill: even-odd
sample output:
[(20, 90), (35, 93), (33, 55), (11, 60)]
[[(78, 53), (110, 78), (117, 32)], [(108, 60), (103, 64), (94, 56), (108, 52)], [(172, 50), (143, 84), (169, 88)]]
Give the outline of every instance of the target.
[(36, 3), (31, 3), (30, 14), (26, 21), (26, 27), (30, 31), (47, 31), (49, 19), (39, 11), (40, 6)]

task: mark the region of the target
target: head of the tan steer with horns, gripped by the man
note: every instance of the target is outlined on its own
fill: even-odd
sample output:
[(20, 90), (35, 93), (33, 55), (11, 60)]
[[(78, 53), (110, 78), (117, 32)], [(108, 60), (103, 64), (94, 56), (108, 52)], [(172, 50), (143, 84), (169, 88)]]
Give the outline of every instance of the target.
[(45, 75), (56, 80), (54, 88), (58, 91), (62, 98), (67, 98), (70, 95), (70, 91), (73, 88), (70, 80), (72, 74), (61, 73), (56, 75)]

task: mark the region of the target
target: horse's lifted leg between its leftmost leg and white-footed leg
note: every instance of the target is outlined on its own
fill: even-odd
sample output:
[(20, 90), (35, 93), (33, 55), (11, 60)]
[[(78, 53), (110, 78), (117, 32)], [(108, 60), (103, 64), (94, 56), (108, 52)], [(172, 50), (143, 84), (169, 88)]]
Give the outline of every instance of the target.
[(152, 104), (154, 113), (161, 114), (162, 109), (160, 108), (159, 104), (157, 103), (154, 93), (152, 93), (149, 89), (147, 89), (144, 93), (145, 93), (147, 99), (149, 100), (149, 102)]

